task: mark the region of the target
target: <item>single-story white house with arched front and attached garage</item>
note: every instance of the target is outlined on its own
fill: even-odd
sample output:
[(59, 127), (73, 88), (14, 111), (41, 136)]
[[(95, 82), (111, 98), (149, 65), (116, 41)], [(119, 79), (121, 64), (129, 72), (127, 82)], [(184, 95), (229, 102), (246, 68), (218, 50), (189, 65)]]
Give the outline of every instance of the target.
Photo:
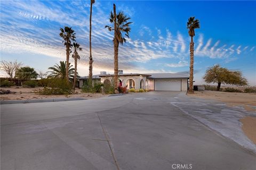
[[(102, 83), (110, 83), (114, 78), (114, 74), (100, 72), (98, 75), (93, 75), (93, 80), (98, 80)], [(127, 89), (148, 89), (155, 91), (187, 91), (189, 76), (179, 73), (123, 73), (118, 71), (119, 86), (127, 87)], [(79, 87), (82, 87), (87, 82), (88, 77), (80, 77)]]

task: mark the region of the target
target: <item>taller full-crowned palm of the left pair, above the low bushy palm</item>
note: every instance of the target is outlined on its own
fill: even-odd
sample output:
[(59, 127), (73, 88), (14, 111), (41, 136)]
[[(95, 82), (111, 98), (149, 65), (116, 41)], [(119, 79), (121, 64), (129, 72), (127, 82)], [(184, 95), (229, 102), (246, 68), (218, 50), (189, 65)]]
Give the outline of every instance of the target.
[(64, 29), (60, 28), (60, 37), (63, 38), (62, 43), (66, 46), (66, 79), (68, 83), (68, 69), (69, 69), (69, 54), (72, 48), (71, 40), (76, 41), (76, 33), (71, 27), (65, 26)]

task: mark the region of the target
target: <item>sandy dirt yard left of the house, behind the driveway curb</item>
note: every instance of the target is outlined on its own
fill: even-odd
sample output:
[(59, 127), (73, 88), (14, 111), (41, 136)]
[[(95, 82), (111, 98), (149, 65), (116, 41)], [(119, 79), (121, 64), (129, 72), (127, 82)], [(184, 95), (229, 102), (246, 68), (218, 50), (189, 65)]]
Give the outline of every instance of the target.
[(43, 89), (43, 88), (17, 88), (17, 87), (10, 87), (10, 88), (1, 88), (3, 90), (11, 90), (12, 92), (16, 92), (15, 94), (8, 94), (8, 95), (1, 95), (1, 100), (31, 100), (31, 99), (47, 99), (47, 98), (99, 98), (106, 95), (103, 94), (87, 94), (81, 92), (81, 89), (76, 89), (75, 91), (77, 94), (74, 95), (38, 95), (34, 93), (34, 90)]

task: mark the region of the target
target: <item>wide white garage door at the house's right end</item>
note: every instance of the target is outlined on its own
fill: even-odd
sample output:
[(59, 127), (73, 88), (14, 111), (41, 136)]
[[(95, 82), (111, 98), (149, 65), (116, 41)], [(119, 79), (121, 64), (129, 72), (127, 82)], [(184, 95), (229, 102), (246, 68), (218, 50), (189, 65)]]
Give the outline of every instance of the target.
[(180, 91), (180, 80), (172, 79), (155, 79), (155, 90)]

